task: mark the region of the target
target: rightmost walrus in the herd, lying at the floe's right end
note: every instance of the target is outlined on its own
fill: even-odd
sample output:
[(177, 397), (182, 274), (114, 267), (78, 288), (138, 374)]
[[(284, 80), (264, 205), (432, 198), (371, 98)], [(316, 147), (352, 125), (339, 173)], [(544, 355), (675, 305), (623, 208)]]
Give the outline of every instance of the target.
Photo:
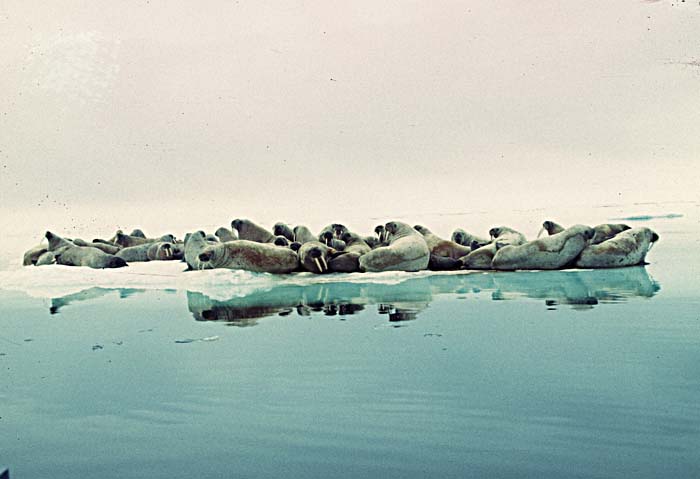
[(643, 264), (659, 235), (649, 228), (631, 228), (599, 244), (592, 244), (576, 260), (578, 268), (617, 268)]

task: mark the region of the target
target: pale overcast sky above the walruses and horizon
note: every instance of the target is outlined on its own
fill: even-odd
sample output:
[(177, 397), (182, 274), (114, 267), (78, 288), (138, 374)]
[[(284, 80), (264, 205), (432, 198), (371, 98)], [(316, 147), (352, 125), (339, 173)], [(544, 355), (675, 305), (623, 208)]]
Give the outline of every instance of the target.
[(697, 1), (3, 0), (0, 67), (3, 208), (698, 197)]

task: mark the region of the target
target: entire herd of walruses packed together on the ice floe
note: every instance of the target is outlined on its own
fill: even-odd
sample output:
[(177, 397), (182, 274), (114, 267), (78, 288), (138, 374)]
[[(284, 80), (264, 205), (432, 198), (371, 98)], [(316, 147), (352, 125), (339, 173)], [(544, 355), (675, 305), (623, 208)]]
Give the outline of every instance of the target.
[[(547, 236), (540, 237), (546, 231)], [(659, 236), (651, 229), (624, 224), (565, 228), (542, 224), (538, 237), (506, 226), (491, 228), (488, 239), (457, 229), (452, 239), (440, 238), (422, 225), (390, 221), (361, 236), (333, 223), (318, 235), (303, 225), (276, 223), (266, 229), (250, 220), (235, 219), (231, 229), (214, 234), (187, 233), (148, 238), (141, 230), (119, 230), (110, 239), (62, 238), (46, 232), (47, 244), (31, 248), (23, 264), (119, 268), (139, 261), (180, 260), (188, 270), (215, 268), (285, 274), (316, 274), (430, 270), (553, 270), (617, 268), (644, 264)]]

